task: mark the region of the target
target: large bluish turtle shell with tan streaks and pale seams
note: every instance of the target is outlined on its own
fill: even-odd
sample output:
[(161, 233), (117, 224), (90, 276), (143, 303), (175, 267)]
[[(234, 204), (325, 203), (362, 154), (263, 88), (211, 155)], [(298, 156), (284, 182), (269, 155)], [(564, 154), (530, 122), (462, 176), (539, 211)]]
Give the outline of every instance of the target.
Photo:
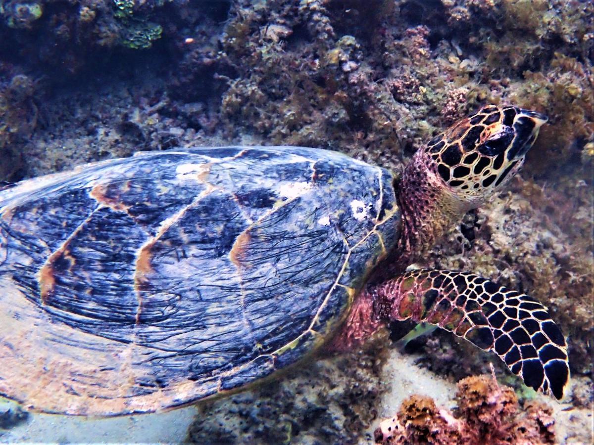
[(73, 415), (225, 393), (314, 351), (397, 239), (389, 171), (143, 152), (0, 192), (0, 393)]

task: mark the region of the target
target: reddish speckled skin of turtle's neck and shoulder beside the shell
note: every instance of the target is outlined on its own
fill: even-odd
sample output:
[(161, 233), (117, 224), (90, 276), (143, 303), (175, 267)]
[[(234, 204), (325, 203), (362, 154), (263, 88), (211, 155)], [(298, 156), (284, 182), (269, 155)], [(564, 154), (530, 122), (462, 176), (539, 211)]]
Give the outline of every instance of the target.
[(397, 199), (402, 220), (396, 248), (356, 296), (346, 323), (328, 345), (331, 350), (349, 351), (386, 325), (390, 320), (385, 317), (385, 308), (393, 304), (394, 295), (377, 293), (375, 287), (402, 274), (467, 211), (478, 205), (478, 202), (463, 201), (444, 185), (437, 167), (424, 150), (416, 152), (406, 166), (397, 186)]

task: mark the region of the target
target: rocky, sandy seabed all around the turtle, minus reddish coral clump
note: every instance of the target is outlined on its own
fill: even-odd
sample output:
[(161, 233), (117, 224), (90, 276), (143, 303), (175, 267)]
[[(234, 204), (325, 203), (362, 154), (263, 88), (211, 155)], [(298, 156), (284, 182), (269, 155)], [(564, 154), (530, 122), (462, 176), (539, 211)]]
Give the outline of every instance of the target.
[[(163, 27), (146, 49), (125, 40), (137, 22), (114, 15), (123, 2), (24, 3), (33, 15), (16, 17), (15, 2), (0, 10), (0, 180), (226, 144), (329, 148), (398, 170), (482, 104), (548, 114), (519, 179), (426, 265), (478, 272), (551, 308), (573, 386), (563, 403), (536, 398), (554, 409), (558, 443), (592, 443), (590, 2), (135, 2), (134, 20)], [(489, 361), (523, 397), (497, 358), (433, 333), (406, 352), (384, 338), (164, 414), (17, 421), (1, 402), (0, 442), (369, 443), (412, 393), (453, 408), (457, 380), (489, 373)]]

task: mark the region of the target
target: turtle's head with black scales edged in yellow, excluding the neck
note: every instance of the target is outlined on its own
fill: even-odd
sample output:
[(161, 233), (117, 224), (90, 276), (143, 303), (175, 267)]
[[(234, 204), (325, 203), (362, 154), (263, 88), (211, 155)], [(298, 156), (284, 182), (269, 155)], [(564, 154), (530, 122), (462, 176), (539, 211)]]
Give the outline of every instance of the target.
[(482, 199), (517, 173), (546, 121), (530, 110), (488, 105), (435, 136), (425, 152), (456, 195)]

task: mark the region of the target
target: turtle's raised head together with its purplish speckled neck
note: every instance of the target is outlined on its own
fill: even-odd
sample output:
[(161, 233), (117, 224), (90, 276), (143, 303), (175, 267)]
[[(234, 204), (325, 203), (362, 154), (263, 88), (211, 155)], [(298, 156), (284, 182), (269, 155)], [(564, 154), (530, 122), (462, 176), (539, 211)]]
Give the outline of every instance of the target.
[(396, 267), (419, 258), (514, 176), (546, 120), (518, 107), (489, 105), (417, 151), (397, 187), (403, 221)]

